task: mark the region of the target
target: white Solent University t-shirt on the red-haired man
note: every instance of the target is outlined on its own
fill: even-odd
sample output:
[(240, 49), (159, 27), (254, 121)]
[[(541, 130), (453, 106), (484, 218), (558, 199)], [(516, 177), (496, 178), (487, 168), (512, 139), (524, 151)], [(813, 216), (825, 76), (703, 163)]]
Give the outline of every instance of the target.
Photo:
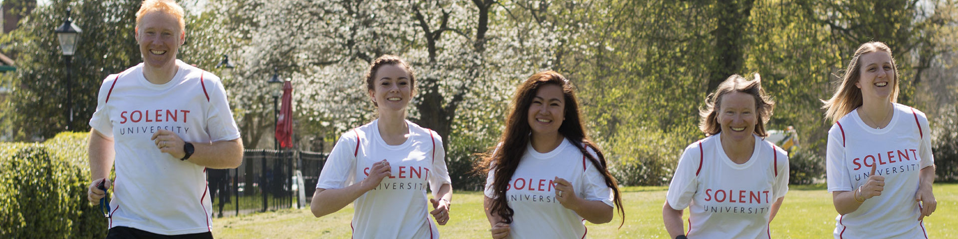
[(147, 81), (143, 67), (107, 76), (90, 119), (116, 150), (109, 227), (167, 235), (210, 231), (206, 167), (160, 152), (150, 138), (165, 129), (190, 142), (239, 139), (226, 91), (217, 76), (180, 60), (165, 84)]

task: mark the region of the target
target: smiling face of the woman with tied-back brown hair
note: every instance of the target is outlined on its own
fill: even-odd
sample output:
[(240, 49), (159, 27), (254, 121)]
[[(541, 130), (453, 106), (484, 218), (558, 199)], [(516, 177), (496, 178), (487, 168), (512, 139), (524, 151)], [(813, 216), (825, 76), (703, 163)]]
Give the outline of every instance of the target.
[(373, 91), (370, 97), (380, 111), (404, 111), (412, 98), (412, 83), (409, 73), (395, 64), (382, 65), (373, 76)]

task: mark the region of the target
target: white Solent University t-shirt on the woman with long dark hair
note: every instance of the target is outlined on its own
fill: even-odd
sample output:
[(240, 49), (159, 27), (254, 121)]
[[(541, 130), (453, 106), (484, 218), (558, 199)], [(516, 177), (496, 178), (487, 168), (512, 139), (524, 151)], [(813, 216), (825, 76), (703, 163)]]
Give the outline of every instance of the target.
[[(587, 150), (598, 159), (595, 151)], [(492, 165), (485, 190), (486, 197), (493, 199), (495, 169)], [(612, 188), (605, 185), (602, 173), (568, 139), (563, 139), (559, 147), (548, 153), (536, 152), (529, 144), (506, 190), (506, 201), (515, 212), (513, 224), (509, 226), (512, 238), (585, 237), (585, 219), (556, 199), (553, 185), (556, 177), (571, 183), (576, 196), (602, 201), (614, 208)]]

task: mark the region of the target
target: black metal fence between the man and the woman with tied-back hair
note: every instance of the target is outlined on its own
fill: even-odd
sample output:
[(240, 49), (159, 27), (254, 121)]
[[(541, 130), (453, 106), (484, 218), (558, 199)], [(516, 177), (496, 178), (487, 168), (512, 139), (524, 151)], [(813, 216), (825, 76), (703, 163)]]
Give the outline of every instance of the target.
[[(298, 150), (246, 149), (239, 167), (206, 170), (213, 200), (211, 214), (232, 216), (293, 206), (301, 208), (309, 203), (316, 190), (327, 156)], [(297, 171), (302, 172), (302, 178), (296, 176)], [(302, 201), (300, 190), (304, 191)]]

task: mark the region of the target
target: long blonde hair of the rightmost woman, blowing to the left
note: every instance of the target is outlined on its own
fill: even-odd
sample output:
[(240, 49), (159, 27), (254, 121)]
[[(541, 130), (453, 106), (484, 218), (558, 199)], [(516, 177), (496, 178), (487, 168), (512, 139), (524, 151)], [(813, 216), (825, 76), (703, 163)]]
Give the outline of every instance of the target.
[[(858, 47), (858, 50), (855, 51), (855, 55), (852, 56), (852, 61), (848, 63), (848, 68), (845, 68), (844, 75), (841, 76), (841, 85), (838, 86), (838, 89), (835, 91), (832, 98), (829, 100), (822, 100), (825, 103), (822, 106), (822, 109), (826, 109), (825, 119), (832, 120), (836, 122), (848, 113), (851, 113), (855, 108), (861, 106), (861, 89), (855, 87), (855, 83), (858, 82), (858, 78), (861, 77), (861, 68), (859, 65), (859, 57), (862, 54), (870, 54), (875, 52), (885, 52), (889, 55), (892, 54), (892, 49), (885, 45), (884, 43), (878, 41), (870, 41), (865, 44), (861, 44)], [(892, 96), (889, 98), (889, 101), (896, 102), (898, 101), (898, 64), (895, 63), (895, 58), (892, 58), (892, 70), (894, 71), (894, 76), (892, 79)]]

